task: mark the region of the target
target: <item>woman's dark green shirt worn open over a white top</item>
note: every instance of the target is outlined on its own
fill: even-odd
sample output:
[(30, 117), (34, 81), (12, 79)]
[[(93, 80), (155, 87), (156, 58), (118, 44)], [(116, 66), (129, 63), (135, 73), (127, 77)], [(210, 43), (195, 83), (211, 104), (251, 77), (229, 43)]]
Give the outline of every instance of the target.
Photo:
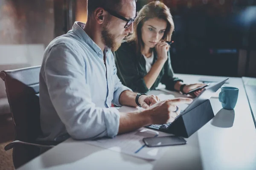
[[(154, 62), (157, 60), (157, 52), (154, 52)], [(174, 85), (177, 81), (183, 82), (177, 77), (173, 77), (173, 70), (171, 65), (170, 53), (168, 52), (168, 59), (165, 62), (160, 74), (150, 89), (145, 85), (144, 77), (147, 75), (145, 68), (145, 58), (141, 53), (137, 53), (134, 42), (123, 42), (120, 48), (114, 52), (117, 76), (122, 84), (131, 88), (133, 91), (139, 93), (147, 93), (154, 90), (159, 83), (166, 85), (167, 90), (174, 91)], [(152, 64), (152, 65), (153, 65)]]

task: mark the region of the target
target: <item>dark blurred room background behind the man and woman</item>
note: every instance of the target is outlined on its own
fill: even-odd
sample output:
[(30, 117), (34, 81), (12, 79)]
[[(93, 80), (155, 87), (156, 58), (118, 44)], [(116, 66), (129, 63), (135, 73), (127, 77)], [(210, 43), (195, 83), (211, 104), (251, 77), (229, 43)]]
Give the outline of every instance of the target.
[[(138, 0), (137, 11), (152, 0)], [(256, 0), (161, 0), (171, 10), (175, 73), (256, 77)], [(40, 65), (44, 48), (74, 21), (86, 0), (0, 0), (0, 64)]]

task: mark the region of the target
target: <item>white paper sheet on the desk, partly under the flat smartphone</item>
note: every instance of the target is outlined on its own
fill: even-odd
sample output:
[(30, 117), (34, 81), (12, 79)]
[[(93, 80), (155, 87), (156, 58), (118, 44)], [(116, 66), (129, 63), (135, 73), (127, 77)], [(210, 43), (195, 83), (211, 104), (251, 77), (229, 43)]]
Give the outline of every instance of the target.
[(168, 149), (168, 146), (145, 146), (143, 138), (154, 136), (170, 136), (170, 134), (142, 127), (134, 132), (118, 135), (113, 139), (98, 139), (95, 141), (86, 141), (86, 143), (116, 152), (126, 153), (142, 159), (157, 160), (163, 156), (163, 153)]

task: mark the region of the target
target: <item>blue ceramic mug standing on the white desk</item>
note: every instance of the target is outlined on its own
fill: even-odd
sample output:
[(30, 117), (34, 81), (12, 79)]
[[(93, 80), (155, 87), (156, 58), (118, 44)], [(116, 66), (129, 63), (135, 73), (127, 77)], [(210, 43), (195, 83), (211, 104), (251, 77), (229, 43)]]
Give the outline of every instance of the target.
[(219, 94), (219, 101), (224, 109), (231, 110), (236, 106), (238, 98), (238, 88), (234, 87), (222, 87)]

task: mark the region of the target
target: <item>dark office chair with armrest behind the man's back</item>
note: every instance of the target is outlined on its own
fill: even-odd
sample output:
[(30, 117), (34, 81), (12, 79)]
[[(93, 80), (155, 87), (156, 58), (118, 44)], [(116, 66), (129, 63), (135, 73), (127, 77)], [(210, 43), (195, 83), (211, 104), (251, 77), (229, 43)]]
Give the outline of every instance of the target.
[(6, 94), (15, 126), (15, 139), (6, 145), (13, 148), (12, 159), (15, 168), (20, 167), (56, 143), (38, 142), (42, 133), (40, 127), (39, 72), (41, 66), (1, 71)]

